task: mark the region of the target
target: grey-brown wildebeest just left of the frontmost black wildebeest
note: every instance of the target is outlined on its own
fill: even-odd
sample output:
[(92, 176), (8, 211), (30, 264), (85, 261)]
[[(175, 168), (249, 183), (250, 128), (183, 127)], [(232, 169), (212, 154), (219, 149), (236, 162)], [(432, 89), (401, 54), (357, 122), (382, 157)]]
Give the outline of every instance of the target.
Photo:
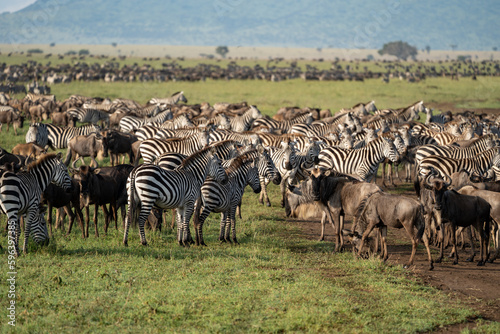
[[(429, 240), (425, 232), (424, 208), (418, 201), (384, 192), (377, 192), (367, 197), (358, 208), (357, 222), (360, 234), (353, 230), (354, 245), (358, 244), (358, 255), (361, 254), (363, 244), (371, 231), (377, 227), (381, 235), (382, 259), (387, 260), (387, 226), (394, 228), (405, 228), (406, 233), (411, 239), (411, 256), (405, 268), (413, 264), (415, 253), (417, 252), (418, 242), (423, 240), (429, 259), (429, 270), (434, 269), (432, 264), (431, 251), (429, 249)], [(415, 230), (417, 234), (415, 235)], [(360, 238), (361, 237), (361, 238)]]

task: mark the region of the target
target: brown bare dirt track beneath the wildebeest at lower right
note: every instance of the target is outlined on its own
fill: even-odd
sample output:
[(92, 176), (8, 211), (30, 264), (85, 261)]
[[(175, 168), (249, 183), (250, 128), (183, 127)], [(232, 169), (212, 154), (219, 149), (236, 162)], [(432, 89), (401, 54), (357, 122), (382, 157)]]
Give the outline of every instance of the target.
[[(381, 181), (377, 179), (377, 184)], [(396, 181), (396, 185), (398, 182)], [(394, 189), (393, 187), (385, 190)], [(416, 198), (414, 192), (404, 192), (402, 195)], [(318, 240), (321, 234), (320, 219), (288, 219), (302, 230), (304, 238)], [(346, 217), (346, 228), (350, 228), (352, 217)], [(334, 234), (331, 225), (326, 227), (326, 242), (334, 242)], [(389, 265), (405, 264), (411, 253), (411, 244), (404, 229), (388, 229), (388, 251)], [(351, 246), (346, 246), (350, 251)], [(437, 258), (438, 249), (431, 247), (433, 258)], [(449, 253), (450, 249), (445, 250)], [(478, 249), (476, 248), (476, 252)], [(436, 263), (434, 270), (428, 270), (428, 261), (425, 248), (421, 244), (418, 248), (415, 263), (411, 270), (414, 275), (423, 282), (447, 293), (451, 298), (463, 303), (464, 306), (477, 310), (478, 318), (487, 321), (500, 321), (500, 261), (487, 263), (484, 267), (477, 266), (477, 258), (474, 262), (466, 262), (470, 254), (470, 248), (459, 250), (459, 263), (452, 264), (452, 260), (445, 256), (442, 263)], [(467, 323), (447, 326), (436, 331), (436, 333), (460, 333), (465, 328), (474, 328), (477, 318), (469, 319)]]

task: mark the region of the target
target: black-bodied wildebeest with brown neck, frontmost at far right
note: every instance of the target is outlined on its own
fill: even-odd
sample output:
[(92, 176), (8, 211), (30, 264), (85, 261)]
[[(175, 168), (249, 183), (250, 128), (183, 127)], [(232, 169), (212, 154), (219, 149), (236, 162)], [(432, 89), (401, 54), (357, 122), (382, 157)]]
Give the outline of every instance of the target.
[[(451, 225), (451, 242), (453, 245), (452, 254), (455, 254), (453, 264), (458, 263), (458, 252), (456, 247), (456, 228), (474, 226), (479, 234), (481, 246), (478, 266), (484, 265), (488, 260), (488, 242), (490, 229), (490, 204), (477, 196), (462, 195), (455, 190), (447, 190), (451, 184), (451, 179), (447, 181), (436, 176), (437, 172), (431, 172), (420, 183), (417, 194), (420, 194), (420, 200), (424, 205), (427, 222), (433, 215), (439, 229), (439, 240), (441, 249), (439, 258), (435, 261), (439, 263), (443, 259), (444, 253), (444, 226), (443, 223), (449, 222)], [(427, 223), (430, 226), (429, 223)], [(474, 260), (475, 253), (467, 261)]]

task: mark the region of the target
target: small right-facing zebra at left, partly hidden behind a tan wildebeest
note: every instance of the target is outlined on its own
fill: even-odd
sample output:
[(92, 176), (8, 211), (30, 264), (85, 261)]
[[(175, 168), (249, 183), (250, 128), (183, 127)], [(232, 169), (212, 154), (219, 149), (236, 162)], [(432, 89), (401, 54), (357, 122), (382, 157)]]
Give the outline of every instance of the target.
[(63, 128), (53, 124), (34, 123), (26, 134), (26, 140), (28, 143), (36, 141), (37, 145), (45, 144), (42, 147), (49, 146), (53, 150), (57, 150), (67, 148), (68, 142), (73, 137), (86, 136), (100, 131), (101, 128), (94, 124), (77, 128)]

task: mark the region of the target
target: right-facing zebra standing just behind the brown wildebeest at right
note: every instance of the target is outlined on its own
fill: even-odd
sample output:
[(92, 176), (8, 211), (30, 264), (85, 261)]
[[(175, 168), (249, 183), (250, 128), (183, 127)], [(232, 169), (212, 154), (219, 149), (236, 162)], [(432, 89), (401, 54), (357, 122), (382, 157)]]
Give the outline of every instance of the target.
[(333, 170), (369, 182), (386, 158), (396, 162), (398, 152), (390, 139), (379, 137), (357, 150), (327, 147), (319, 153), (318, 166), (323, 171)]

